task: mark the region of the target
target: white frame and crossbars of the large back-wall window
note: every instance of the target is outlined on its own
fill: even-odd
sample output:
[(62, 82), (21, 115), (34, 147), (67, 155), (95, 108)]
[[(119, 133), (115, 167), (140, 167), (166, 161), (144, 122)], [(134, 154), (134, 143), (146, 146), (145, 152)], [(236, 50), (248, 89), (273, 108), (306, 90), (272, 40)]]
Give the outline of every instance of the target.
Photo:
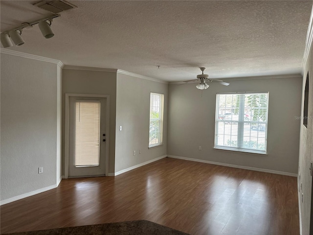
[[(268, 136), (268, 100), (267, 99), (267, 114), (266, 114), (266, 121), (263, 122), (262, 121), (262, 124), (265, 124), (265, 150), (258, 150), (258, 149), (251, 149), (251, 148), (241, 148), (240, 146), (225, 146), (225, 145), (218, 145), (216, 143), (217, 141), (217, 123), (219, 122), (224, 122), (225, 121), (220, 121), (219, 120), (219, 111), (220, 111), (220, 107), (218, 107), (218, 104), (219, 104), (219, 95), (220, 94), (267, 94), (268, 97), (269, 97), (269, 92), (229, 92), (229, 93), (217, 93), (216, 94), (216, 106), (215, 106), (215, 128), (214, 128), (214, 145), (213, 145), (213, 149), (218, 149), (218, 150), (225, 150), (225, 151), (233, 151), (233, 152), (240, 152), (240, 153), (247, 153), (247, 154), (261, 154), (261, 155), (267, 155), (268, 152), (267, 152), (267, 136)], [(239, 107), (244, 107), (244, 108), (240, 108), (239, 109), (239, 117), (244, 117), (244, 114), (245, 114), (245, 104), (242, 103), (242, 101), (244, 101), (244, 99), (240, 99), (241, 103), (239, 105)], [(241, 120), (240, 120), (241, 119)], [(244, 118), (238, 118), (238, 120), (232, 120), (232, 122), (238, 122), (238, 129), (237, 129), (237, 138), (240, 139), (241, 141), (243, 141), (243, 129), (241, 128), (242, 131), (240, 131), (240, 128), (239, 126), (241, 125), (241, 127), (243, 127), (244, 123), (245, 122), (248, 122), (250, 123), (260, 123), (260, 121), (252, 121), (252, 120), (249, 120), (249, 121), (245, 121)], [(259, 130), (258, 130), (259, 131)], [(251, 133), (250, 133), (251, 135)]]

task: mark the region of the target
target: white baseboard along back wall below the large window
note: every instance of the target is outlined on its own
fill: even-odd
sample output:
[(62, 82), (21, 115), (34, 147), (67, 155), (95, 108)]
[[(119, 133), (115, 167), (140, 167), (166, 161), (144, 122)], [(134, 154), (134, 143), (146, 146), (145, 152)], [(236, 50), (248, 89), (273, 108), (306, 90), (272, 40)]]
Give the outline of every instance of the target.
[(268, 170), (268, 169), (250, 167), (250, 166), (218, 163), (218, 162), (211, 162), (211, 161), (194, 159), (194, 158), (185, 158), (185, 157), (179, 157), (179, 156), (173, 156), (173, 155), (167, 155), (167, 157), (169, 157), (169, 158), (177, 158), (177, 159), (187, 160), (187, 161), (193, 161), (193, 162), (199, 162), (199, 163), (223, 165), (223, 166), (228, 166), (228, 167), (233, 167), (233, 168), (240, 168), (240, 169), (246, 169), (246, 170), (255, 170), (255, 171), (267, 172), (267, 173), (278, 174), (278, 175), (288, 175), (288, 176), (292, 176), (292, 177), (297, 177), (298, 176), (298, 174), (295, 174), (295, 173), (289, 173), (289, 172), (283, 172), (283, 171), (277, 171), (277, 170)]

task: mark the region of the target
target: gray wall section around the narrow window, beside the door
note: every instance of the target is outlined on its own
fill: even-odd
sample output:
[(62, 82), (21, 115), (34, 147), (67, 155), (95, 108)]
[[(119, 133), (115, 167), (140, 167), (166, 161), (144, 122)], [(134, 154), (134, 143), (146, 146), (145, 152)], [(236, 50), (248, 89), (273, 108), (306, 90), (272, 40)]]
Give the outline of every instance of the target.
[[(163, 145), (148, 149), (150, 92), (164, 94), (164, 122)], [(167, 100), (167, 84), (117, 73), (115, 172), (166, 155)]]

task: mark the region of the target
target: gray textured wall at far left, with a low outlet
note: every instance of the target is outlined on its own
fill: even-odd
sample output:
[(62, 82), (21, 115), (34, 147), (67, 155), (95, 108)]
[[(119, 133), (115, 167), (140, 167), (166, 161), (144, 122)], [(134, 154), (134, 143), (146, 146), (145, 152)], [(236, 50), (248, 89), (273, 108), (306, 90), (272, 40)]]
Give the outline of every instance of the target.
[[(1, 201), (55, 186), (58, 66), (1, 53)], [(60, 88), (60, 87), (59, 87)], [(44, 173), (38, 174), (38, 167)]]

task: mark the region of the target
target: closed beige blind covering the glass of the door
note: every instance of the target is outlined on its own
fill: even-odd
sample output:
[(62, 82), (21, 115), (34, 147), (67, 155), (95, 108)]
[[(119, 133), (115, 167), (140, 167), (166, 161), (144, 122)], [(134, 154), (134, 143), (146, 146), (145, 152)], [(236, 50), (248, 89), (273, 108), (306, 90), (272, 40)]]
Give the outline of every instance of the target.
[(100, 159), (100, 102), (75, 102), (75, 166), (98, 166)]

